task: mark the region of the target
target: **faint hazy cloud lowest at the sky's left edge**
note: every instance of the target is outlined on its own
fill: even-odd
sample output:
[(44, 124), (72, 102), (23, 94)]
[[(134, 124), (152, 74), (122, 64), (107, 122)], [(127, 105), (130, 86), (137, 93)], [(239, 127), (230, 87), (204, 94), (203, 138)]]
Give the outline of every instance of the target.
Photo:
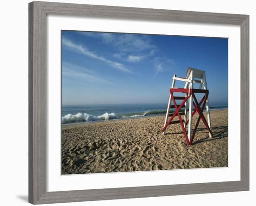
[(89, 70), (88, 68), (81, 67), (75, 64), (70, 64), (67, 62), (64, 62), (62, 64), (61, 73), (65, 77), (72, 77), (80, 80), (83, 80), (84, 82), (90, 81), (90, 82), (99, 82), (99, 83), (107, 83), (111, 84), (107, 79), (100, 77), (99, 74), (96, 74), (94, 71)]

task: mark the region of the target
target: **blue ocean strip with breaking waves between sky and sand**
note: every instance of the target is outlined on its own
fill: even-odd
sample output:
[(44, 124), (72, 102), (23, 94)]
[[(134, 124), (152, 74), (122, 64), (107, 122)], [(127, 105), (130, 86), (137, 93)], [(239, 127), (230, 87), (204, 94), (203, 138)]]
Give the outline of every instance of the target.
[[(141, 118), (145, 116), (165, 116), (166, 108), (166, 103), (62, 105), (61, 123), (68, 124), (125, 118)], [(226, 108), (228, 108), (228, 106), (210, 106), (210, 110)]]

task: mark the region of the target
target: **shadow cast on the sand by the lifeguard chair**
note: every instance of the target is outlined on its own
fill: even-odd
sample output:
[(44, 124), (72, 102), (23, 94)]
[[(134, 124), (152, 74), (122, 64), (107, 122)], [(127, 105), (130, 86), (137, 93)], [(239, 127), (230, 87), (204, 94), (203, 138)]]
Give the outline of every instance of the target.
[[(216, 130), (218, 130), (218, 131), (216, 132)], [(205, 128), (197, 128), (197, 132), (200, 132), (201, 134), (202, 133), (208, 134), (208, 131)], [(193, 142), (191, 145), (228, 137), (228, 126), (212, 127), (212, 132), (213, 132), (213, 138), (209, 138), (209, 136), (207, 135), (207, 137), (205, 137), (201, 140), (197, 140), (197, 141)], [(183, 135), (183, 132), (166, 133), (166, 135)]]

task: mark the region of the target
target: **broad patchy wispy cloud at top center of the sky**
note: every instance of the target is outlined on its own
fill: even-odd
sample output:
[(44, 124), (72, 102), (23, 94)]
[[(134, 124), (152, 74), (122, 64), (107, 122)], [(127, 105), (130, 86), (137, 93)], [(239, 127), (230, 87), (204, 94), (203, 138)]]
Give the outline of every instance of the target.
[(101, 42), (110, 44), (116, 53), (113, 56), (121, 61), (137, 63), (143, 59), (153, 59), (155, 76), (163, 71), (174, 68), (175, 61), (159, 56), (161, 50), (152, 43), (148, 35), (115, 34), (100, 32), (80, 32), (82, 35), (101, 39)]

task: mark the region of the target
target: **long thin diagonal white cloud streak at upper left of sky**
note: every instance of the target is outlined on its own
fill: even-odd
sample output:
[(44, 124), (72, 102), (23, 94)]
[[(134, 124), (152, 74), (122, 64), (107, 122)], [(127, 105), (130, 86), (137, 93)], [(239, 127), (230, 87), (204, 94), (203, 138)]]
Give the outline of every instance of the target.
[(65, 38), (62, 39), (62, 44), (76, 52), (79, 52), (79, 53), (85, 55), (85, 56), (101, 60), (102, 62), (105, 62), (108, 65), (110, 65), (111, 67), (114, 67), (120, 71), (133, 73), (132, 71), (127, 69), (123, 64), (121, 64), (119, 62), (111, 61), (104, 57), (101, 57), (101, 56), (97, 55), (95, 52), (89, 51), (88, 48), (84, 45), (77, 45), (77, 44), (73, 43), (72, 41), (70, 41), (69, 39), (65, 39)]

